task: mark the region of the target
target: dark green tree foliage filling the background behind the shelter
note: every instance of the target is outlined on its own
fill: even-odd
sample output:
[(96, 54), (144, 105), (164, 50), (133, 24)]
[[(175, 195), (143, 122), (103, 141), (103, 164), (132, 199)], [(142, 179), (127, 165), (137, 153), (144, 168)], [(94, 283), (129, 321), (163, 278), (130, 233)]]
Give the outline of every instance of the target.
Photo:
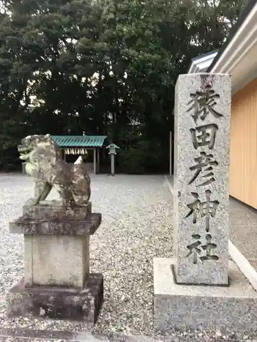
[(0, 1), (0, 168), (25, 135), (108, 134), (121, 170), (167, 170), (174, 86), (247, 0)]

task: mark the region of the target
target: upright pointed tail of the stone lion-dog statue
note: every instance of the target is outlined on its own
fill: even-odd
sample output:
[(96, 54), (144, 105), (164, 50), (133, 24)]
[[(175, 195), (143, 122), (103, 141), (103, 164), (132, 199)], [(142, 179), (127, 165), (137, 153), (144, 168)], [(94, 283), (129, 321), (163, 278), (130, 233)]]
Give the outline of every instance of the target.
[(73, 197), (77, 205), (83, 205), (90, 199), (90, 176), (82, 157), (78, 157), (72, 166)]

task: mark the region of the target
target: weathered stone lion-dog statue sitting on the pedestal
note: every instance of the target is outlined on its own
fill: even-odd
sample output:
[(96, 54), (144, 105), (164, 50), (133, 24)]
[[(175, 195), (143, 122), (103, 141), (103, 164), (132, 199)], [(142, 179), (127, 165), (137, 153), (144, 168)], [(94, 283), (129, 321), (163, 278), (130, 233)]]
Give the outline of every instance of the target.
[(25, 161), (26, 173), (34, 180), (34, 197), (27, 205), (45, 200), (52, 187), (62, 205), (85, 205), (90, 198), (90, 176), (82, 157), (70, 166), (62, 159), (62, 151), (51, 135), (29, 135), (18, 146), (20, 159)]

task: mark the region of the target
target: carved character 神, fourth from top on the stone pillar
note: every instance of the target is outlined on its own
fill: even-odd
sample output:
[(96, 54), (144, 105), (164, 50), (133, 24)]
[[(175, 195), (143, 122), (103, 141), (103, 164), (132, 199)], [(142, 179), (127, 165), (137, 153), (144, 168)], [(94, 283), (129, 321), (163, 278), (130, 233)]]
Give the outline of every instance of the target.
[(208, 189), (205, 191), (206, 201), (201, 202), (199, 200), (199, 195), (196, 192), (191, 192), (191, 195), (195, 197), (195, 201), (187, 205), (190, 209), (189, 213), (186, 215), (186, 218), (193, 215), (193, 224), (197, 222), (197, 214), (200, 215), (201, 218), (206, 218), (206, 232), (210, 231), (210, 217), (214, 218), (217, 208), (219, 206), (218, 200), (210, 200), (211, 191)]

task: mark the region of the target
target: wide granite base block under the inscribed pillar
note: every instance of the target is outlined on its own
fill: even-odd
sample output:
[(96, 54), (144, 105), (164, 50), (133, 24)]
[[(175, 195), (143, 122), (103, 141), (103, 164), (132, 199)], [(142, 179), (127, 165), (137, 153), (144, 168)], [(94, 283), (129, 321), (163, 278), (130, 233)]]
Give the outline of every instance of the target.
[(156, 330), (210, 329), (257, 332), (257, 293), (230, 261), (230, 286), (178, 285), (171, 266), (175, 259), (154, 259)]

